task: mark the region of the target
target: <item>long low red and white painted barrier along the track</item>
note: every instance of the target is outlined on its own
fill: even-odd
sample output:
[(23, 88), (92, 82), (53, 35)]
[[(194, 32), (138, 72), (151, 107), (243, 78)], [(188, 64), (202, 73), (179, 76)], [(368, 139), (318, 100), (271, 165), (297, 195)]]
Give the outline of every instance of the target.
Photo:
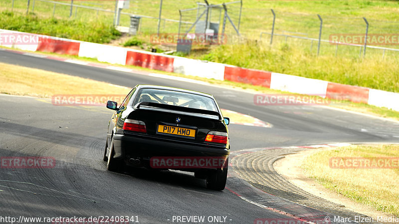
[(129, 48), (0, 29), (0, 46), (96, 58), (216, 80), (230, 80), (291, 93), (349, 100), (399, 111), (399, 93), (350, 86), (221, 63), (205, 62)]

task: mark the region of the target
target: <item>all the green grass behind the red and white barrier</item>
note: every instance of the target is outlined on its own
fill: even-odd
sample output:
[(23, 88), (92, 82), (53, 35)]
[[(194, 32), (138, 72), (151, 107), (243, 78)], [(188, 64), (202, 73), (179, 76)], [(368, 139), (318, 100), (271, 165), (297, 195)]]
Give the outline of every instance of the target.
[[(29, 11), (33, 10), (30, 0)], [(225, 0), (228, 1), (228, 0)], [(60, 1), (68, 4), (69, 1)], [(110, 26), (113, 23), (115, 1), (74, 1), (76, 4), (99, 7), (111, 12), (91, 9), (73, 8), (69, 18), (69, 5), (56, 5), (53, 13), (53, 3), (34, 1), (34, 15), (24, 18), (27, 1), (14, 1), (14, 15), (1, 16), (0, 28), (37, 32), (73, 39), (93, 42), (109, 42), (118, 38), (118, 33)], [(209, 3), (217, 4), (223, 0)], [(11, 0), (0, 0), (0, 10), (10, 10)], [(130, 2), (130, 8), (124, 12), (158, 16), (159, 0), (135, 0)], [(179, 19), (178, 9), (196, 7), (195, 0), (164, 1), (162, 17)], [(226, 34), (230, 42), (223, 46), (194, 46), (187, 57), (227, 63), (241, 67), (267, 70), (278, 73), (299, 75), (309, 78), (328, 80), (332, 82), (358, 85), (399, 92), (399, 52), (383, 51), (367, 48), (363, 57), (359, 47), (342, 46), (322, 43), (320, 56), (317, 56), (317, 42), (275, 36), (270, 46), (272, 13), (276, 12), (275, 33), (293, 34), (317, 38), (320, 21), (317, 14), (323, 18), (322, 39), (329, 39), (330, 34), (364, 33), (366, 24), (363, 16), (370, 23), (369, 33), (398, 33), (399, 1), (397, 0), (307, 0), (307, 1), (275, 1), (275, 0), (243, 0), (240, 22), (240, 32), (245, 39), (231, 42), (233, 29), (227, 24)], [(218, 20), (217, 11), (212, 12), (212, 21)], [(228, 13), (238, 25), (239, 4), (228, 6)], [(197, 11), (183, 13), (183, 20), (193, 22)], [(32, 19), (34, 18), (34, 19)], [(129, 25), (129, 16), (121, 16), (121, 25)], [(187, 30), (189, 25), (182, 26)], [(161, 22), (160, 32), (178, 31), (178, 23)], [(148, 43), (149, 36), (157, 30), (157, 19), (142, 18), (137, 39), (140, 43)], [(300, 33), (300, 34), (298, 34)], [(236, 39), (234, 39), (236, 40)], [(125, 43), (129, 46), (133, 43)], [(133, 44), (134, 45), (134, 44)], [(156, 46), (154, 46), (157, 48)], [(383, 47), (398, 48), (399, 45)], [(182, 55), (182, 54), (179, 54)], [(383, 57), (384, 55), (384, 57)], [(361, 57), (360, 57), (361, 56)]]

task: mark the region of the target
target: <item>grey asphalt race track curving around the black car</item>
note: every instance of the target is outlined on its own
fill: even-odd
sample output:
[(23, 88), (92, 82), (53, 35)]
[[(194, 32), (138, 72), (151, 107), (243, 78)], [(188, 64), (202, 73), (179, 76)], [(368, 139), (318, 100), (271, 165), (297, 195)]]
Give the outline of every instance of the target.
[[(212, 94), (223, 109), (252, 115), (272, 128), (230, 124), (231, 150), (337, 142), (398, 142), (399, 123), (313, 106), (255, 106), (253, 94), (32, 57), (0, 50), (0, 62), (104, 81), (151, 84)], [(112, 94), (112, 90), (110, 90)], [(226, 223), (288, 219), (234, 193), (204, 188), (183, 172), (116, 174), (102, 161), (107, 122), (102, 107), (53, 106), (50, 100), (0, 95), (0, 155), (48, 156), (55, 168), (0, 169), (1, 216), (137, 216), (172, 223), (174, 216), (226, 217)], [(231, 181), (227, 182), (227, 188)], [(222, 218), (223, 221), (223, 218)], [(176, 221), (175, 221), (176, 223)], [(214, 222), (216, 223), (216, 222)]]

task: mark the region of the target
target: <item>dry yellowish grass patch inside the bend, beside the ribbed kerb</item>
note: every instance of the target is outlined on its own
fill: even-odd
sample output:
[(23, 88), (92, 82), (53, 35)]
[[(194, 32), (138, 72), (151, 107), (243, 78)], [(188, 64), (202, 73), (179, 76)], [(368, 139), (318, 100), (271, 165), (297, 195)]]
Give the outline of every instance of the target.
[(399, 145), (352, 145), (307, 157), (302, 168), (327, 189), (399, 216), (399, 169), (332, 169), (331, 157), (399, 157)]

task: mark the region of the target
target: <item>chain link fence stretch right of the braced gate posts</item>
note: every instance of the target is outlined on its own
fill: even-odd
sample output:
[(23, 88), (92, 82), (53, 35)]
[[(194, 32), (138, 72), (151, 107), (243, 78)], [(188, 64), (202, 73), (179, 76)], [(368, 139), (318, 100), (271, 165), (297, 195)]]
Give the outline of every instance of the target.
[[(245, 33), (252, 39), (257, 38), (271, 47), (287, 43), (314, 55), (364, 57), (366, 53), (381, 58), (399, 56), (399, 22), (396, 21), (366, 17), (369, 23), (368, 38), (380, 37), (383, 40), (376, 43), (376, 41), (371, 41), (374, 40), (373, 38), (370, 38), (365, 45), (367, 23), (363, 17), (320, 15), (319, 18), (317, 14), (253, 8), (243, 8), (242, 12), (241, 33)], [(275, 14), (274, 28), (273, 12)], [(255, 17), (258, 22), (247, 22), (245, 18), (251, 17), (250, 15), (256, 15), (252, 18)], [(356, 41), (355, 38), (357, 38)]]

